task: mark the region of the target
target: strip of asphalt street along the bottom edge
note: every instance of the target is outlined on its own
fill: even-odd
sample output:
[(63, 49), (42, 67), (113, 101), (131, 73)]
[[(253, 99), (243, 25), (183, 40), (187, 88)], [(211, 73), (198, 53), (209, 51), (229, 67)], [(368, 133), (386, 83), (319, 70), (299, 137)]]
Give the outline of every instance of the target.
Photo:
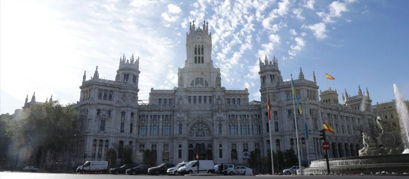
[(148, 176), (0, 172), (0, 179), (409, 179), (409, 176)]

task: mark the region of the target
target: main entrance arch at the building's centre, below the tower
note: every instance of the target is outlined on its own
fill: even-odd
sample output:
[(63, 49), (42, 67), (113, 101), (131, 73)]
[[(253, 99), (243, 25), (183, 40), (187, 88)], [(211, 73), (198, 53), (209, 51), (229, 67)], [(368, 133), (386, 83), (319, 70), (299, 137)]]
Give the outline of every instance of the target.
[(199, 160), (213, 160), (211, 128), (204, 120), (195, 122), (189, 130), (189, 161), (196, 160), (196, 154), (199, 154)]

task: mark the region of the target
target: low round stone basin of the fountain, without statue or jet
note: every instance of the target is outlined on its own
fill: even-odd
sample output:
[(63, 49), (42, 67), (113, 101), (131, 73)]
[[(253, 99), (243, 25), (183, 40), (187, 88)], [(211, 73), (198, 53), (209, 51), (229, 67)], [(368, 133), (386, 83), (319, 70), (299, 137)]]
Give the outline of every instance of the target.
[[(409, 154), (344, 157), (329, 159), (332, 174), (409, 173)], [(325, 159), (311, 161), (304, 175), (326, 175)]]

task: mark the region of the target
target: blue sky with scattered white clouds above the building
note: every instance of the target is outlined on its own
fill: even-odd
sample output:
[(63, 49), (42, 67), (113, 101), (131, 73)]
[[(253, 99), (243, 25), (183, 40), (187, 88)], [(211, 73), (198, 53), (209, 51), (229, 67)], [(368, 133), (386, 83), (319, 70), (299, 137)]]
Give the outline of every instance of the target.
[[(408, 0), (1, 0), (0, 113), (36, 101), (79, 100), (89, 79), (114, 80), (119, 58), (139, 56), (139, 99), (177, 86), (189, 22), (208, 21), (212, 60), (226, 89), (260, 100), (258, 58), (284, 80), (316, 74), (321, 90), (368, 88), (372, 104), (409, 98)], [(326, 80), (325, 73), (335, 77)]]

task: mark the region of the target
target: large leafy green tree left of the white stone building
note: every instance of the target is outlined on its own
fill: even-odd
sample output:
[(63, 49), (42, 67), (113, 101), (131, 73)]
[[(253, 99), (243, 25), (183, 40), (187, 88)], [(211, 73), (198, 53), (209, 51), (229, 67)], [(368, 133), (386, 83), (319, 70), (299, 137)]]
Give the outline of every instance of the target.
[(37, 154), (37, 163), (44, 167), (46, 154), (55, 161), (74, 142), (78, 113), (75, 104), (62, 106), (58, 101), (44, 102), (25, 110), (26, 117), (8, 125), (7, 135), (24, 139), (23, 142), (32, 147), (33, 154)]

